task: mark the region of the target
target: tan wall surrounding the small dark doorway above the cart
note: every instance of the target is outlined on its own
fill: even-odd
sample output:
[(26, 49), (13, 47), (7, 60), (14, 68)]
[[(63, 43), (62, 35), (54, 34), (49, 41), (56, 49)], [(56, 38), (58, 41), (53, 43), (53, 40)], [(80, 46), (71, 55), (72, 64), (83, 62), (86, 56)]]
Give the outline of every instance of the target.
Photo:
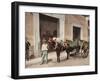
[(73, 26), (80, 27), (80, 39), (88, 41), (88, 22), (86, 18), (81, 15), (65, 15), (65, 40), (73, 40)]

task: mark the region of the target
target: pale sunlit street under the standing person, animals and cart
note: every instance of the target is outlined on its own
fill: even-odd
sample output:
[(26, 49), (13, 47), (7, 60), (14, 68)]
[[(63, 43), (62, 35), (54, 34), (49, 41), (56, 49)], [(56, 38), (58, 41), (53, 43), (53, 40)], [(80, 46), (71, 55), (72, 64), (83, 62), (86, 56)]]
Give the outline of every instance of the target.
[(40, 67), (58, 67), (58, 66), (81, 66), (89, 64), (89, 56), (82, 58), (79, 54), (77, 56), (70, 56), (66, 60), (67, 54), (65, 51), (61, 52), (60, 63), (57, 63), (56, 52), (48, 53), (48, 64), (41, 65), (41, 57), (26, 61), (26, 68), (40, 68)]

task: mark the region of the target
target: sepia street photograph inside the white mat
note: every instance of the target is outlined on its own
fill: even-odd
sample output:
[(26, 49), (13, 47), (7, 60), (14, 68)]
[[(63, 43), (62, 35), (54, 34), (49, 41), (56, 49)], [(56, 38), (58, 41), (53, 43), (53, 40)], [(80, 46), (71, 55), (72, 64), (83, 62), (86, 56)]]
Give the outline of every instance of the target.
[(25, 68), (89, 65), (89, 15), (25, 12)]

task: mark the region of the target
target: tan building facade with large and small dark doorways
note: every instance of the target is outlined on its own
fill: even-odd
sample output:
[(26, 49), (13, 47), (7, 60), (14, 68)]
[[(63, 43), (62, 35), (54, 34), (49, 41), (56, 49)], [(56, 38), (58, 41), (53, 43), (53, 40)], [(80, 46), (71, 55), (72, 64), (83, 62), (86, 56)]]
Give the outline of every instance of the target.
[(76, 38), (89, 41), (88, 20), (82, 15), (25, 13), (25, 37), (31, 43), (32, 53), (40, 56), (41, 40), (46, 36), (55, 36), (61, 40)]

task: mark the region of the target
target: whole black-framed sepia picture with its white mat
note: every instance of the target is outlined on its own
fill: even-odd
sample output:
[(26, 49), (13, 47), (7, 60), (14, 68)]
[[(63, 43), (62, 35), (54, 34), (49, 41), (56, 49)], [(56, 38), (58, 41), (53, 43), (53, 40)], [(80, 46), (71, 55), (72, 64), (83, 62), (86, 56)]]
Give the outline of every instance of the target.
[(97, 7), (12, 3), (12, 78), (97, 74)]

